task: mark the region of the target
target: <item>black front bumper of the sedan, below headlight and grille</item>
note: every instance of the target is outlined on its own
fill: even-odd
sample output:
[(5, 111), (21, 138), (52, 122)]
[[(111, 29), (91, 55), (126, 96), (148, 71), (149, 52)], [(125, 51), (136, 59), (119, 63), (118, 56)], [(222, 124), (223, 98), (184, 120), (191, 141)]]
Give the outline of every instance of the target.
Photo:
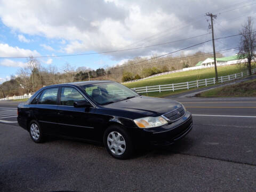
[(173, 142), (185, 137), (193, 128), (191, 113), (186, 114), (178, 121), (160, 127), (137, 129), (138, 141), (149, 142), (153, 145), (171, 145)]

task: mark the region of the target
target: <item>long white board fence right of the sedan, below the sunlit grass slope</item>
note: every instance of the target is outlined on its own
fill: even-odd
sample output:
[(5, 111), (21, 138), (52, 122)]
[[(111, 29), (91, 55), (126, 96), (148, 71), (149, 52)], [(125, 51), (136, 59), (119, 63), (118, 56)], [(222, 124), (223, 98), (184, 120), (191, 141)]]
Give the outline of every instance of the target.
[[(256, 72), (256, 68), (252, 69), (252, 73)], [(244, 74), (243, 72), (233, 75), (221, 76), (218, 77), (219, 83), (233, 81), (234, 79), (241, 78), (243, 76), (249, 75), (249, 73)], [(184, 82), (184, 83), (172, 83), (166, 85), (154, 85), (154, 86), (145, 86), (145, 87), (135, 87), (132, 90), (136, 91), (137, 93), (149, 93), (149, 92), (159, 92), (162, 91), (175, 91), (175, 90), (182, 90), (182, 89), (191, 89), (193, 87), (200, 87), (200, 86), (208, 86), (212, 84), (216, 84), (216, 79), (214, 78), (206, 78), (191, 82)]]

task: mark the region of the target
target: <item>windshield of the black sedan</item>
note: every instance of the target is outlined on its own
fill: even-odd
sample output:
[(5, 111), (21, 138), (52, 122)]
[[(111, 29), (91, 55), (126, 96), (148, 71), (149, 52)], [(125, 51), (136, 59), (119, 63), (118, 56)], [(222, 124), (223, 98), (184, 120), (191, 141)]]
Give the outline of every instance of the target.
[(126, 86), (116, 82), (83, 85), (82, 89), (99, 105), (107, 105), (139, 96)]

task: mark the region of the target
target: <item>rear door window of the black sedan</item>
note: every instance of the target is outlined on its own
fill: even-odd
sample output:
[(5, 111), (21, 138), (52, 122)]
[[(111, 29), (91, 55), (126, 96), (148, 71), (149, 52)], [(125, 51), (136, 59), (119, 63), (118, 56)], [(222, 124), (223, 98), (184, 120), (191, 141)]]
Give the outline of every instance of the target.
[(46, 89), (41, 94), (38, 104), (57, 105), (58, 87)]

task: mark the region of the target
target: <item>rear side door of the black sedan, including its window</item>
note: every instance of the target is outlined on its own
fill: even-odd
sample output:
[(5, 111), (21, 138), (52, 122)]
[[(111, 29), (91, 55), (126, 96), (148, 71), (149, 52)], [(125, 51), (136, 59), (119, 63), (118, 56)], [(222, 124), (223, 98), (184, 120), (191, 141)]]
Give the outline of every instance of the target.
[(57, 98), (59, 87), (51, 87), (42, 91), (36, 107), (34, 107), (34, 115), (41, 125), (44, 133), (58, 133), (57, 122)]

